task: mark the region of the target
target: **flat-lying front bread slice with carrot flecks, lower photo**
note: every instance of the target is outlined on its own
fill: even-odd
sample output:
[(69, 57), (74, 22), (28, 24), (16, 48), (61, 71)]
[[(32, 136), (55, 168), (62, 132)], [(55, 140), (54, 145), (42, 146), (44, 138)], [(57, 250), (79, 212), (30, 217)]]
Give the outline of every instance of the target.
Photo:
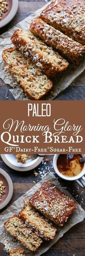
[(9, 218), (8, 221), (4, 223), (5, 229), (10, 235), (14, 236), (24, 247), (28, 248), (30, 251), (37, 251), (40, 244), (42, 243), (41, 238), (39, 238), (30, 228), (19, 219), (17, 215)]

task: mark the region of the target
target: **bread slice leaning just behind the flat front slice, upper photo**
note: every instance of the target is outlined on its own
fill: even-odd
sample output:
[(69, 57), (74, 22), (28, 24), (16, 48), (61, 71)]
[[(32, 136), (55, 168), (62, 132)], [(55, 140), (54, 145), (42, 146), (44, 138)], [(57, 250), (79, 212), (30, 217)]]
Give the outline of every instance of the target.
[(16, 30), (11, 37), (12, 43), (41, 68), (48, 76), (56, 76), (57, 73), (68, 67), (68, 62), (52, 48), (46, 46), (40, 39), (34, 37), (30, 31)]

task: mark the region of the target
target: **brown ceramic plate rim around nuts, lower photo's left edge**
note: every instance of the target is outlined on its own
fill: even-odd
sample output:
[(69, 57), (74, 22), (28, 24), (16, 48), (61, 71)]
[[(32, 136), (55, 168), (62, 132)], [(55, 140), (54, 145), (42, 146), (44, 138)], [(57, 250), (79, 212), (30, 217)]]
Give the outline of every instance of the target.
[(3, 209), (11, 200), (13, 195), (13, 183), (10, 176), (3, 169), (0, 168), (0, 180), (3, 181), (5, 187), (5, 194), (1, 196), (0, 210)]

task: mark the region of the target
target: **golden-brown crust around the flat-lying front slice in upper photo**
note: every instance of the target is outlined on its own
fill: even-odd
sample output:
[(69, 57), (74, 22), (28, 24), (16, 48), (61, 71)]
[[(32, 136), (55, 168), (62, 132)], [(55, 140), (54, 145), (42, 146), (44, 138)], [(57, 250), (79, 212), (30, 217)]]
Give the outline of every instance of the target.
[[(14, 65), (11, 63), (11, 60), (10, 60), (10, 63), (8, 63), (8, 57), (6, 57), (6, 54), (9, 52), (10, 54), (14, 51), (18, 51), (17, 48), (15, 47), (10, 47), (8, 49), (5, 49), (3, 51), (3, 54), (2, 54), (2, 57), (3, 57), (3, 60), (4, 62), (6, 63), (6, 65), (8, 66), (8, 69), (9, 71), (13, 74), (13, 76), (16, 78), (17, 80), (17, 77), (16, 77), (16, 70), (14, 69)], [(26, 57), (24, 57), (26, 58)], [(30, 60), (30, 63), (32, 64), (31, 60)], [(32, 64), (33, 67), (35, 68), (35, 64)], [(24, 65), (24, 68), (25, 68), (26, 64)], [(29, 64), (30, 66), (30, 64)], [(18, 69), (21, 68), (20, 66), (18, 66)], [(21, 68), (22, 69), (22, 68)], [(45, 74), (42, 73), (41, 71), (39, 71), (39, 69), (36, 67), (36, 70), (37, 72), (40, 72), (40, 77), (42, 77), (42, 79), (45, 77)], [(23, 69), (22, 69), (23, 71)], [(33, 76), (32, 76), (33, 77)], [(38, 94), (38, 93), (34, 93), (33, 91), (30, 90), (30, 88), (27, 88), (27, 86), (25, 85), (25, 82), (24, 80), (22, 81), (19, 80), (18, 81), (18, 84), (20, 84), (21, 88), (25, 91), (25, 93), (27, 94), (28, 97), (30, 97), (31, 99), (33, 100), (39, 100), (41, 99), (45, 94), (47, 94), (52, 88), (53, 88), (53, 82), (48, 78), (46, 77), (46, 80), (47, 80), (47, 86), (45, 87), (45, 90), (44, 90), (44, 93), (42, 94), (42, 91), (41, 91), (41, 94)], [(32, 80), (33, 81), (33, 80)], [(34, 84), (35, 86), (35, 84)], [(36, 84), (37, 86), (37, 84)], [(43, 87), (43, 86), (42, 86)], [(43, 89), (43, 88), (42, 88)]]

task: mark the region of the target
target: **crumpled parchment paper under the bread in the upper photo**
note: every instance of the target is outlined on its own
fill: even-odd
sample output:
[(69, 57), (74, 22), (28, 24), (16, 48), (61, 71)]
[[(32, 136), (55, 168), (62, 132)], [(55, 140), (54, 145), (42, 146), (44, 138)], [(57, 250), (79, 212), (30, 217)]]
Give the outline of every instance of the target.
[[(51, 3), (51, 1), (49, 3)], [(44, 5), (43, 8), (37, 10), (35, 13), (31, 14), (30, 16), (25, 18), (23, 21), (19, 22), (16, 26), (14, 26), (12, 29), (7, 31), (0, 37), (0, 77), (3, 79), (3, 81), (6, 84), (9, 84), (10, 86), (12, 86), (12, 88), (16, 86), (14, 89), (10, 89), (11, 93), (13, 94), (16, 100), (22, 100), (22, 99), (28, 100), (28, 97), (24, 98), (23, 90), (22, 89), (18, 90), (18, 84), (13, 79), (12, 74), (9, 74), (9, 72), (6, 71), (7, 68), (2, 69), (2, 65), (3, 65), (2, 51), (5, 48), (9, 48), (13, 46), (11, 43), (10, 37), (13, 35), (14, 31), (16, 29), (28, 30), (32, 22), (32, 19), (35, 19), (37, 16), (39, 16), (41, 11), (48, 4)], [(75, 78), (84, 71), (84, 69), (85, 69), (85, 57), (81, 61), (81, 63), (78, 66), (76, 66), (75, 71), (73, 71), (74, 70), (73, 65), (70, 64), (67, 70), (61, 73), (61, 75), (58, 75), (56, 79), (53, 81), (54, 89), (52, 90), (52, 93), (48, 93), (48, 95), (46, 95), (43, 99), (46, 99), (46, 100), (54, 99), (61, 91), (67, 88), (73, 82), (73, 80), (75, 80)]]

